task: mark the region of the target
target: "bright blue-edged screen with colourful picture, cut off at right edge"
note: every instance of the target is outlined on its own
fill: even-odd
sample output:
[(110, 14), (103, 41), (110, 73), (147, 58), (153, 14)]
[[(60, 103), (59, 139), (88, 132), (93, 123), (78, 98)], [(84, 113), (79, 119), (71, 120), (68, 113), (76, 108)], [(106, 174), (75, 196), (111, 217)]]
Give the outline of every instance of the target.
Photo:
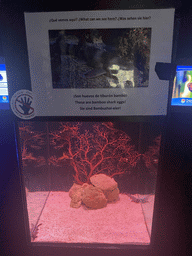
[(171, 105), (192, 106), (192, 66), (177, 66)]

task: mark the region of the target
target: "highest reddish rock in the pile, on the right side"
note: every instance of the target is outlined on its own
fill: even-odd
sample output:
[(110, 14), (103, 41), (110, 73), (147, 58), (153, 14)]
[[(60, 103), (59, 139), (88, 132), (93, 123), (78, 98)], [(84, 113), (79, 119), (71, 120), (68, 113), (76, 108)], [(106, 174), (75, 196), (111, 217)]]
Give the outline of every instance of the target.
[(103, 191), (108, 202), (114, 202), (119, 198), (118, 184), (113, 178), (101, 173), (93, 175), (90, 181), (93, 186)]

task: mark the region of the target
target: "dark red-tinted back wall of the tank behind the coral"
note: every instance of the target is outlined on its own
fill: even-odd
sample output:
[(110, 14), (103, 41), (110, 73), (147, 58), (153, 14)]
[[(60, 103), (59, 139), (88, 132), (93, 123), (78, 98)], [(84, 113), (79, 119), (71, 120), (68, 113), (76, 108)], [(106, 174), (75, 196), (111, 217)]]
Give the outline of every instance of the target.
[[(95, 130), (95, 125), (97, 130)], [(74, 163), (80, 168), (80, 162), (84, 161), (84, 153), (81, 152), (80, 159), (75, 158), (80, 136), (84, 136), (81, 143), (87, 143), (89, 151), (89, 165), (94, 154), (98, 154), (102, 148), (98, 148), (98, 140), (105, 146), (105, 138), (102, 132), (107, 134), (115, 146), (127, 140), (127, 149), (121, 148), (119, 159), (111, 157), (109, 161), (103, 161), (99, 166), (107, 175), (114, 175), (118, 182), (120, 192), (125, 193), (154, 193), (157, 174), (161, 122), (154, 123), (127, 123), (127, 122), (20, 122), (20, 145), (23, 160), (23, 177), (25, 186), (29, 191), (69, 191), (74, 180)], [(62, 129), (68, 129), (62, 133)], [(113, 128), (114, 132), (110, 129)], [(100, 131), (100, 130), (101, 131)], [(103, 129), (103, 130), (102, 130)], [(122, 138), (120, 138), (122, 135)], [(114, 138), (112, 137), (114, 136)], [(93, 137), (93, 138), (92, 138)], [(74, 153), (69, 153), (70, 146), (74, 148)], [(123, 142), (124, 143), (124, 142)], [(107, 144), (107, 143), (106, 143)], [(114, 149), (108, 147), (107, 154), (114, 154)], [(120, 146), (119, 146), (120, 147)], [(79, 150), (79, 149), (78, 149)], [(100, 153), (99, 153), (100, 154)], [(117, 154), (117, 153), (116, 153)], [(121, 159), (120, 159), (121, 158)], [(98, 161), (99, 159), (95, 160)], [(107, 166), (111, 168), (111, 174)], [(90, 167), (88, 172), (90, 172)], [(117, 169), (115, 169), (117, 168)], [(119, 168), (119, 170), (118, 170)], [(101, 170), (95, 169), (94, 172)], [(94, 174), (95, 174), (94, 173)], [(116, 174), (115, 174), (116, 173)], [(118, 174), (119, 173), (119, 174)], [(86, 177), (80, 177), (81, 182), (86, 182)]]

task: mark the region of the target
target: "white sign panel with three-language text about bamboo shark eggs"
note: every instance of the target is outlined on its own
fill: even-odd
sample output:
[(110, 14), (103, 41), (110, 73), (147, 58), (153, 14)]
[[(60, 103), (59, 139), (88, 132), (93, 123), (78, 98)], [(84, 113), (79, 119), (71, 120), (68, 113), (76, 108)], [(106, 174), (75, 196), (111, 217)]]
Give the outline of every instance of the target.
[(25, 13), (36, 116), (166, 115), (174, 9)]

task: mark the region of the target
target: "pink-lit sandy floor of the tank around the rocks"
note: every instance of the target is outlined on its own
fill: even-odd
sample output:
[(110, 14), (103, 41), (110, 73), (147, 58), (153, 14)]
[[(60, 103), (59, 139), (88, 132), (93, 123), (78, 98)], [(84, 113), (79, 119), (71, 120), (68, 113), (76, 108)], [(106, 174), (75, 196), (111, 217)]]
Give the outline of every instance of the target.
[(34, 242), (150, 243), (154, 196), (141, 205), (120, 194), (117, 202), (97, 210), (87, 210), (84, 206), (71, 208), (70, 201), (68, 192), (28, 193), (30, 226), (41, 224)]

